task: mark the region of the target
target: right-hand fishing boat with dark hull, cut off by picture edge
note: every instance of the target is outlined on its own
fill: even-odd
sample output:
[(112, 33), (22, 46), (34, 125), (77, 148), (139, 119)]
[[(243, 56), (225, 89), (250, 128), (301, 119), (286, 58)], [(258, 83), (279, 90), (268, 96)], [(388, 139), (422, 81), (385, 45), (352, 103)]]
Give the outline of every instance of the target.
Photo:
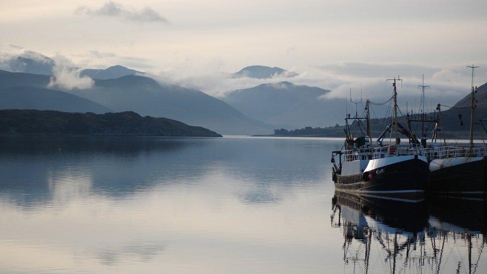
[[(474, 143), (474, 121), (477, 87), (474, 87), (474, 69), (472, 68), (471, 119), (469, 144), (448, 145), (425, 148), (424, 155), (430, 164), (430, 180), (427, 192), (433, 195), (487, 197), (487, 146)], [(437, 106), (440, 111), (440, 104)], [(482, 121), (480, 121), (482, 122)], [(436, 142), (436, 138), (434, 138)]]

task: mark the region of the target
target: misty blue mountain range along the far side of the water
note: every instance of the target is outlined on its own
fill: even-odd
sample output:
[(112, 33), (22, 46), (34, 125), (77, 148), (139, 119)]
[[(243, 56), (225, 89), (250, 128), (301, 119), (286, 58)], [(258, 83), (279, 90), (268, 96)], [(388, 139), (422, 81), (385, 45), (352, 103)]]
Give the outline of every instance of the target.
[[(11, 70), (24, 72), (0, 70), (0, 108), (93, 113), (135, 111), (204, 126), (223, 134), (244, 135), (269, 134), (274, 128), (326, 127), (342, 121), (344, 113), (344, 100), (326, 98), (329, 90), (289, 81), (269, 83), (270, 78), (298, 75), (279, 67), (244, 67), (231, 77), (251, 77), (264, 83), (231, 91), (217, 99), (196, 89), (156, 81), (148, 77), (150, 74), (120, 65), (106, 69), (78, 68), (75, 71), (79, 71), (79, 76), (92, 78), (94, 85), (69, 90), (52, 86), (55, 63), (48, 57), (15, 56), (9, 60), (9, 66)], [(487, 118), (483, 114), (487, 114), (487, 103), (484, 103), (487, 86), (480, 86), (476, 96), (480, 102), (477, 114)], [(470, 95), (455, 107), (468, 105)], [(444, 116), (449, 118), (445, 125), (457, 128), (459, 114), (466, 124), (470, 114), (461, 112), (466, 111), (444, 111)]]

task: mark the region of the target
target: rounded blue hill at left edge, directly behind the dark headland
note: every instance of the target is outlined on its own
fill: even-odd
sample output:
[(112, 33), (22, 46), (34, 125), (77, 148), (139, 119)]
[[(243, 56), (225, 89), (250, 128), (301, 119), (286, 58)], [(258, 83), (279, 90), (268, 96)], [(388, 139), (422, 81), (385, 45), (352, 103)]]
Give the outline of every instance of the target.
[(67, 112), (105, 113), (111, 110), (76, 95), (39, 87), (7, 87), (0, 89), (0, 109), (38, 109)]

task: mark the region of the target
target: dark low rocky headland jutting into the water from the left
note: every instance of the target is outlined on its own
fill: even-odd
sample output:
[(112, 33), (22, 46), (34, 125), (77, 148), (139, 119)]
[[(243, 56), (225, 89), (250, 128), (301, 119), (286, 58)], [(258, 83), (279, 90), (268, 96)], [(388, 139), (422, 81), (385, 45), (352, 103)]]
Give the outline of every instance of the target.
[(101, 135), (222, 137), (203, 127), (134, 112), (68, 113), (50, 110), (0, 110), (0, 135)]

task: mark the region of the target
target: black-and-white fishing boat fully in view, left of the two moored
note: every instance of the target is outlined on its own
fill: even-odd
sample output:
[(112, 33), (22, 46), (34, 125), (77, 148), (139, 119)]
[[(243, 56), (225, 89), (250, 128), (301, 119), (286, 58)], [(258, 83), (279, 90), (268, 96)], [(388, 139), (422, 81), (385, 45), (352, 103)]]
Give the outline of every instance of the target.
[[(391, 123), (379, 136), (376, 141), (377, 146), (374, 147), (370, 107), (376, 103), (366, 101), (365, 116), (359, 117), (356, 113), (355, 117), (350, 117), (350, 114), (347, 114), (344, 149), (332, 152), (332, 179), (337, 191), (385, 199), (421, 201), (424, 199), (429, 175), (428, 161), (422, 155), (421, 144), (411, 131), (398, 123), (396, 82), (401, 79), (398, 77), (388, 80), (393, 81), (393, 95), (390, 100), (394, 108)], [(363, 125), (364, 120), (366, 126)], [(353, 127), (358, 128), (363, 136), (354, 138)], [(389, 144), (384, 145), (382, 143), (384, 136), (390, 133), (390, 140), (392, 140), (393, 132), (395, 142), (390, 141)], [(401, 145), (399, 133), (414, 140), (409, 144)]]

